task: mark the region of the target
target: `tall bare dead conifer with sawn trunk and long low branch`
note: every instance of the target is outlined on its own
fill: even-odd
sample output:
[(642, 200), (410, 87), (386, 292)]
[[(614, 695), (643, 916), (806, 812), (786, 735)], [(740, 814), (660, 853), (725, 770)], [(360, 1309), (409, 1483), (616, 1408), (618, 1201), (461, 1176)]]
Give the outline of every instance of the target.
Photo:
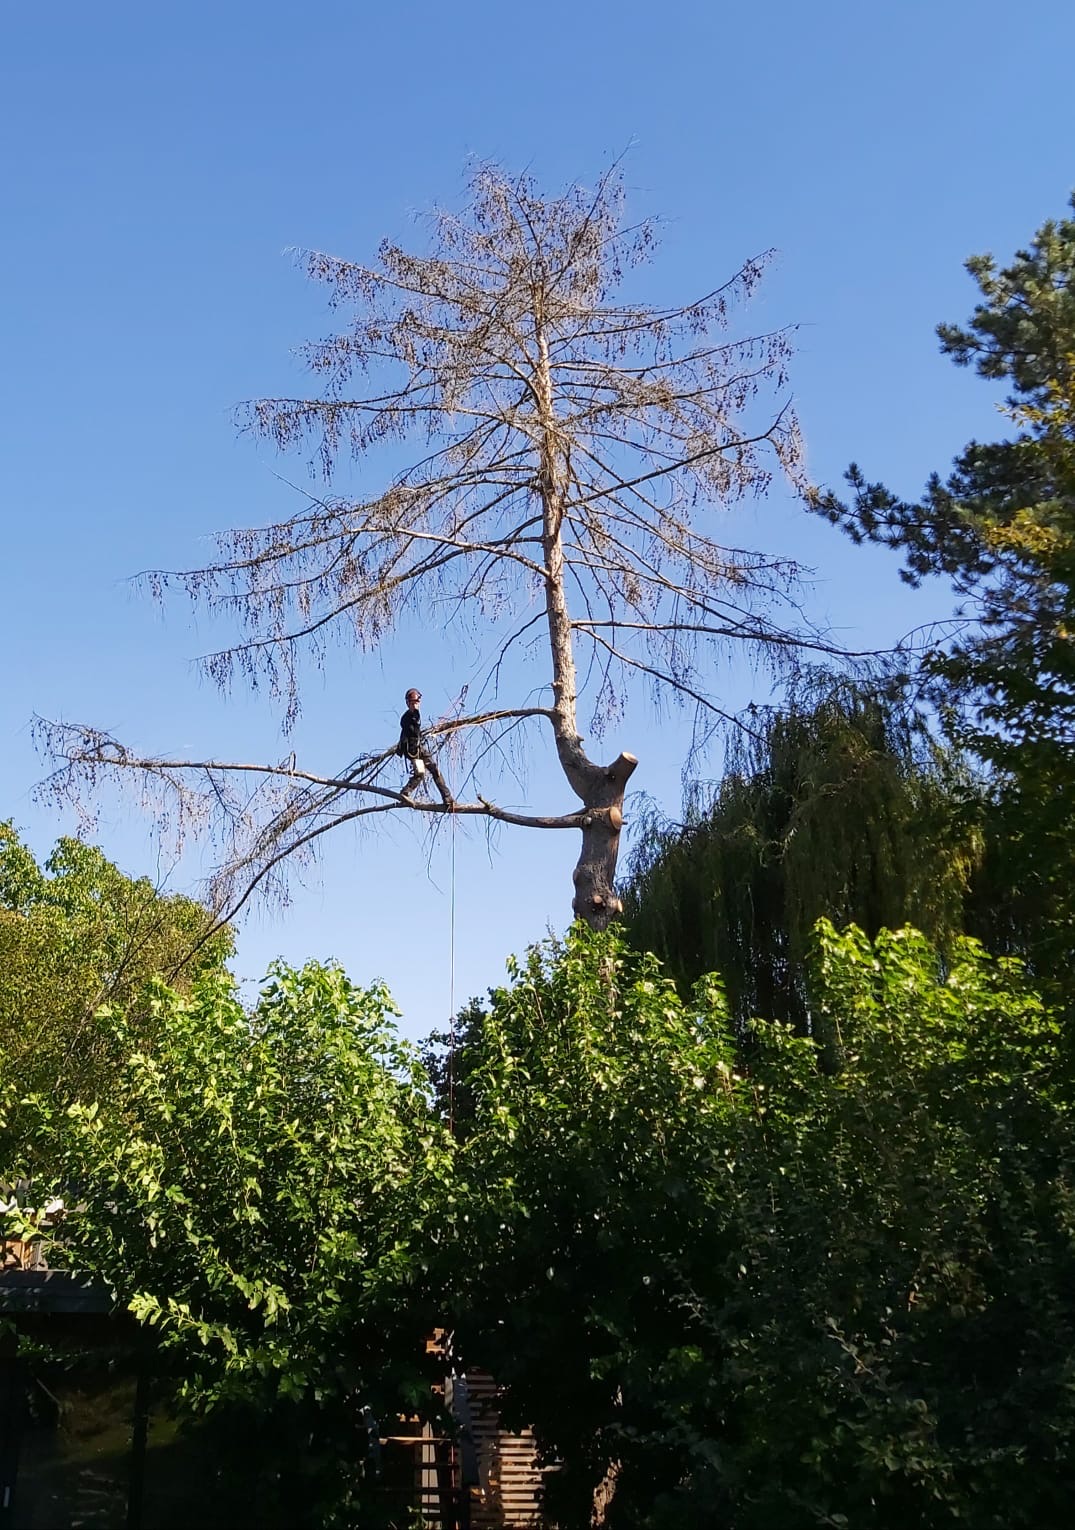
[[(800, 473), (781, 399), (789, 334), (728, 330), (766, 259), (659, 308), (618, 295), (653, 243), (651, 220), (625, 222), (616, 170), (596, 191), (543, 199), (528, 177), (483, 168), (465, 211), (433, 219), (424, 254), (384, 243), (370, 266), (304, 256), (343, 323), (306, 349), (312, 396), (260, 399), (246, 422), (281, 450), (306, 445), (326, 493), (284, 522), (225, 532), (208, 568), (154, 580), (235, 618), (235, 643), (209, 655), (206, 672), (223, 687), (268, 685), (287, 722), (303, 656), (321, 662), (330, 640), (369, 652), (404, 615), (480, 624), (495, 659), (469, 693), (485, 704), (468, 711), (463, 698), (428, 728), (465, 786), (450, 780), (440, 799), (411, 800), (391, 747), (320, 773), (294, 757), (144, 757), (93, 727), (40, 724), (52, 789), (84, 799), (102, 777), (136, 777), (173, 826), (213, 820), (225, 913), (278, 884), (330, 829), (378, 814), (575, 829), (573, 910), (604, 926), (618, 912), (636, 757), (593, 757), (580, 704), (592, 704), (599, 737), (633, 678), (674, 693), (696, 725), (716, 721), (723, 708), (702, 649), (745, 641), (778, 659), (820, 641), (792, 601), (794, 565), (717, 536), (731, 502), (763, 491), (774, 470)], [(381, 459), (382, 487), (344, 493), (349, 457), (364, 464), (364, 483)], [(502, 695), (505, 661), (535, 630), (543, 688), (528, 682), (520, 702)], [(567, 811), (494, 800), (488, 777), (505, 741), (535, 725), (550, 730), (576, 799)]]

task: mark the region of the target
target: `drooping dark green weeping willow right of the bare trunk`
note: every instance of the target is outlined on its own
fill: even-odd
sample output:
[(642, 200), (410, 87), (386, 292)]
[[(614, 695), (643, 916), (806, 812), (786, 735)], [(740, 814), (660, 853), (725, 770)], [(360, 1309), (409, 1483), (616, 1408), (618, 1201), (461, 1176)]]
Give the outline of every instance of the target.
[(685, 991), (720, 972), (734, 1014), (809, 1030), (803, 955), (826, 916), (870, 936), (913, 924), (940, 950), (963, 929), (983, 854), (983, 794), (899, 699), (812, 675), (757, 715), (684, 822), (650, 820), (624, 920)]

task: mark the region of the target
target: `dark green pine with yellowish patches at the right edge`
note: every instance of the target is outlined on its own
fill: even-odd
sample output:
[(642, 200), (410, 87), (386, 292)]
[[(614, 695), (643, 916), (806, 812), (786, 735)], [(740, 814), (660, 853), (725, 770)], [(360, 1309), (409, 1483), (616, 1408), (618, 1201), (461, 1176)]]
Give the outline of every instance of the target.
[(936, 695), (962, 742), (997, 771), (997, 874), (1009, 913), (1037, 929), (1035, 978), (1064, 996), (1075, 939), (1075, 219), (1043, 223), (1028, 249), (997, 268), (976, 256), (980, 301), (966, 326), (940, 324), (957, 366), (1009, 384), (1012, 433), (973, 441), (947, 479), (908, 502), (852, 467), (847, 503), (820, 508), (856, 540), (904, 554), (911, 584), (954, 584), (962, 621), (928, 661)]

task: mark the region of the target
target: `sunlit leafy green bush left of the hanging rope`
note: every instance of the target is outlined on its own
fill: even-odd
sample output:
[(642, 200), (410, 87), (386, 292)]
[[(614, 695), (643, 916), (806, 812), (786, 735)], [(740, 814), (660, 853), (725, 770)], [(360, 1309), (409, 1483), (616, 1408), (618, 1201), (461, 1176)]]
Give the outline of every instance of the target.
[(121, 1059), (106, 1105), (38, 1103), (57, 1186), (78, 1186), (63, 1252), (156, 1331), (190, 1408), (258, 1418), (274, 1470), (292, 1492), (303, 1475), (295, 1522), (329, 1522), (359, 1492), (370, 1418), (428, 1406), (416, 1282), (447, 1134), (381, 987), (280, 965), (249, 1014), (222, 976), (158, 985), (151, 1008), (151, 1051), (98, 1016)]

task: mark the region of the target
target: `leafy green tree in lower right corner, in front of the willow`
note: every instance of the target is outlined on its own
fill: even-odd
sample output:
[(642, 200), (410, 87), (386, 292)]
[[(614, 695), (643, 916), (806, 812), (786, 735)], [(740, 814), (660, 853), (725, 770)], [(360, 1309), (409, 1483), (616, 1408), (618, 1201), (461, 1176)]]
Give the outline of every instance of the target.
[[(739, 1299), (748, 1525), (1064, 1524), (1075, 1134), (1017, 964), (818, 927), (840, 1056), (757, 1030)], [(728, 1322), (729, 1319), (729, 1322)], [(789, 1512), (791, 1510), (791, 1512)]]

